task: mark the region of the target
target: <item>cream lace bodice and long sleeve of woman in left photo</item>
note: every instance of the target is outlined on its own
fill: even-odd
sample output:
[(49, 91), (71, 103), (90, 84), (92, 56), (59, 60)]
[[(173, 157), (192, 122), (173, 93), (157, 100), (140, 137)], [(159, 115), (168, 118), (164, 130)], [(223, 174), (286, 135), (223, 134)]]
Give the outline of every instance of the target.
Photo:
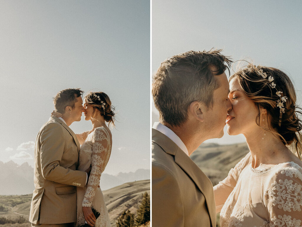
[(91, 165), (91, 173), (82, 206), (91, 206), (100, 183), (101, 173), (104, 171), (111, 154), (112, 142), (104, 127), (98, 127), (90, 134), (84, 132), (79, 136), (83, 139), (86, 136), (86, 138), (80, 149), (78, 170), (85, 171)]

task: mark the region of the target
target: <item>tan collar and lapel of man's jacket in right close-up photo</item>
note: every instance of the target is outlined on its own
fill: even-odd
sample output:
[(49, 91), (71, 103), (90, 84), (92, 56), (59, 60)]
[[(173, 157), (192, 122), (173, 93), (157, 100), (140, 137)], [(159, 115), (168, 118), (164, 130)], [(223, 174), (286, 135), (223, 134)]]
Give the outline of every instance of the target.
[(185, 154), (169, 137), (156, 129), (152, 129), (152, 141), (158, 144), (166, 153), (174, 156), (174, 161), (197, 185), (204, 195), (212, 222), (216, 226), (216, 208), (214, 203), (213, 184), (201, 169)]

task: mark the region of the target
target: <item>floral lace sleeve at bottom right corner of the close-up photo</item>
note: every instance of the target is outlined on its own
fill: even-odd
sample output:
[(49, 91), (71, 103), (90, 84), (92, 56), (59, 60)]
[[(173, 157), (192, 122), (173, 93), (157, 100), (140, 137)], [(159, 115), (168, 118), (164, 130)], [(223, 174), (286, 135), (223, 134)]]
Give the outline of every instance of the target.
[(275, 173), (265, 193), (270, 226), (302, 225), (302, 168), (291, 163)]

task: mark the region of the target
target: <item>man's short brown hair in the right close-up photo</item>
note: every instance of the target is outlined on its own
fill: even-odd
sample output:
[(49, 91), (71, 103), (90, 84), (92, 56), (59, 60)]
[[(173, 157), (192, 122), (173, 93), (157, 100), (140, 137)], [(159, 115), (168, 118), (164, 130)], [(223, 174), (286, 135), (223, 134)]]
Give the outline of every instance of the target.
[[(220, 86), (214, 76), (229, 70), (233, 62), (221, 51), (188, 51), (161, 63), (152, 83), (154, 105), (160, 120), (171, 126), (181, 126), (187, 120), (191, 102), (202, 101), (212, 107), (213, 92)], [(211, 71), (213, 66), (217, 71)]]

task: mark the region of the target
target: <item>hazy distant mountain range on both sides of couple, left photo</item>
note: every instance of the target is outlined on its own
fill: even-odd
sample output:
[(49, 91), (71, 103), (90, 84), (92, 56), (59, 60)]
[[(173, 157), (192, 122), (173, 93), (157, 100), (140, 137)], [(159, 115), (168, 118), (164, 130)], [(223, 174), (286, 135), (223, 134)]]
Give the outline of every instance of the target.
[[(102, 174), (100, 186), (107, 190), (127, 182), (150, 179), (149, 169), (137, 169), (134, 173), (119, 173), (117, 176)], [(34, 169), (23, 163), (18, 165), (13, 161), (0, 161), (0, 195), (24, 195), (34, 190)]]

